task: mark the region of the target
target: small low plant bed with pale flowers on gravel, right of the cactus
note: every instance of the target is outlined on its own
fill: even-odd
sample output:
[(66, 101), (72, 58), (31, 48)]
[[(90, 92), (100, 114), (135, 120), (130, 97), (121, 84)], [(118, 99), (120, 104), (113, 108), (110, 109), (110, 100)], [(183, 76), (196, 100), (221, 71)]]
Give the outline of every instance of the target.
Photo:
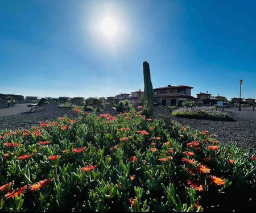
[(228, 112), (216, 111), (212, 107), (182, 107), (173, 111), (172, 115), (184, 118), (232, 120)]

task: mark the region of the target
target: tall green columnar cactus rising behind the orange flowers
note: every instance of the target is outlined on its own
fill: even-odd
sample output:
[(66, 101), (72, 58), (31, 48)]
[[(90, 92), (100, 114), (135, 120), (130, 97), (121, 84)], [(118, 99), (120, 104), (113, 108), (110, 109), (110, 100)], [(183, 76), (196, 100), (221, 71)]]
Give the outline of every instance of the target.
[(154, 92), (150, 78), (150, 67), (147, 61), (143, 62), (143, 74), (144, 74), (144, 100), (143, 100), (143, 114), (146, 118), (153, 115), (154, 110)]

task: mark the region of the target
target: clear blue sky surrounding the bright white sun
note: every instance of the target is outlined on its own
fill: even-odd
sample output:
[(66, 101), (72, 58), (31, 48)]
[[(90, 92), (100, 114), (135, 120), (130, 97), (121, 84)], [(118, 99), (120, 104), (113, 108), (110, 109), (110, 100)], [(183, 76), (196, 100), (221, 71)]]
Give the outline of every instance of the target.
[[(0, 0), (0, 93), (107, 97), (193, 86), (256, 98), (256, 1)], [(101, 22), (117, 24), (106, 36)]]

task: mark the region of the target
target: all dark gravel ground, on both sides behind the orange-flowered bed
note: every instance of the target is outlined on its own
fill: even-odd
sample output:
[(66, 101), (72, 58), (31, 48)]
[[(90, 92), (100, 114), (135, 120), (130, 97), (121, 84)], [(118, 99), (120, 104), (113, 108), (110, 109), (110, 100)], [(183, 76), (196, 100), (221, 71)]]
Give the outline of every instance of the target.
[[(76, 114), (71, 108), (59, 108), (56, 105), (46, 106), (46, 111), (28, 112), (27, 104), (18, 104), (11, 108), (0, 108), (0, 130), (9, 128), (16, 130), (18, 128), (30, 128), (37, 126), (38, 122), (45, 122), (46, 120), (54, 120), (57, 117), (64, 115), (69, 118), (75, 118)], [(155, 118), (168, 118), (177, 120), (183, 126), (188, 125), (196, 128), (199, 131), (208, 130), (209, 133), (217, 135), (217, 139), (221, 143), (231, 143), (237, 141), (242, 148), (256, 150), (256, 111), (252, 107), (225, 109), (233, 115), (234, 121), (215, 121), (204, 119), (187, 119), (176, 118), (171, 115), (167, 107), (158, 106), (154, 108)], [(20, 113), (22, 112), (22, 113)], [(104, 111), (97, 112), (97, 114), (109, 113), (114, 115), (115, 110), (112, 106), (106, 106)]]

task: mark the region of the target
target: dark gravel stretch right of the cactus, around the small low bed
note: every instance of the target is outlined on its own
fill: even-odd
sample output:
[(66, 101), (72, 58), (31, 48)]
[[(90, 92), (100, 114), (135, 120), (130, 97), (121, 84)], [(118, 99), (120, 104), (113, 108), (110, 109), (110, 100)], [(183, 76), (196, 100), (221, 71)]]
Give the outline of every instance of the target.
[(188, 125), (200, 131), (208, 130), (209, 133), (216, 134), (221, 143), (236, 141), (240, 147), (256, 151), (256, 108), (255, 111), (252, 107), (241, 108), (241, 111), (238, 111), (238, 108), (225, 108), (225, 111), (233, 115), (234, 121), (229, 122), (177, 118), (161, 108), (163, 107), (155, 107), (155, 113), (162, 112), (163, 117), (174, 119), (183, 126)]

